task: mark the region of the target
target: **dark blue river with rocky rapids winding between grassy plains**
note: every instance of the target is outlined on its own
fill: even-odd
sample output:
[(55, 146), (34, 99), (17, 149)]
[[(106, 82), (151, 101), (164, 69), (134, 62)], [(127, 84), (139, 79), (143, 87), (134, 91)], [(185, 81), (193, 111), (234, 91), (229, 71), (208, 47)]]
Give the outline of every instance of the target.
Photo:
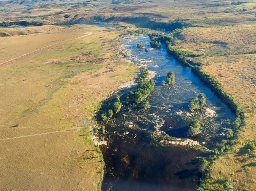
[[(137, 49), (137, 43), (148, 52)], [(145, 111), (141, 105), (125, 104), (135, 86), (119, 90), (103, 103), (105, 110), (119, 95), (124, 106), (105, 124), (102, 191), (195, 191), (201, 176), (198, 158), (211, 154), (226, 139), (224, 133), (235, 115), (191, 68), (169, 55), (165, 45), (150, 48), (145, 35), (123, 36), (122, 45), (130, 53), (129, 61), (155, 73), (156, 87)], [(162, 86), (168, 71), (174, 72), (175, 83)], [(206, 109), (189, 112), (190, 99), (200, 93), (206, 95)], [(187, 130), (194, 119), (201, 121), (201, 132), (190, 138)]]

